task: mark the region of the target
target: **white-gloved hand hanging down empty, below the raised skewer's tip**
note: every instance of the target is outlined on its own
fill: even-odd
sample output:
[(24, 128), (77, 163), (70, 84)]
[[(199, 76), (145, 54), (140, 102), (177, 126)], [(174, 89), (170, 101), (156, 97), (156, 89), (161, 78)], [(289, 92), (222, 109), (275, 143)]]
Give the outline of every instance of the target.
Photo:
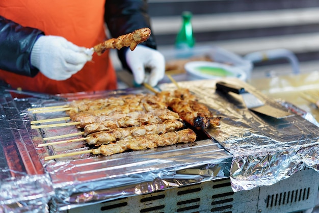
[[(133, 51), (126, 51), (125, 59), (137, 84), (145, 82), (154, 87), (165, 75), (164, 56), (155, 49), (137, 45)], [(145, 68), (151, 70), (149, 75), (145, 73)]]

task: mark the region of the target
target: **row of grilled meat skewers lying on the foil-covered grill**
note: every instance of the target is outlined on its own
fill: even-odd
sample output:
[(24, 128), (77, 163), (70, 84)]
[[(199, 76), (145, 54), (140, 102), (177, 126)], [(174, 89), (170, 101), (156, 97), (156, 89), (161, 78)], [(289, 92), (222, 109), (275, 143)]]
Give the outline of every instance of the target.
[[(154, 90), (153, 90), (154, 91)], [(155, 94), (129, 94), (100, 99), (72, 101), (67, 105), (50, 108), (29, 109), (32, 113), (50, 113), (65, 111), (68, 117), (32, 121), (32, 128), (50, 128), (75, 125), (84, 131), (64, 137), (83, 135), (81, 138), (39, 146), (58, 145), (85, 140), (97, 148), (51, 155), (45, 159), (71, 156), (83, 153), (111, 155), (126, 150), (153, 149), (177, 143), (192, 143), (195, 132), (185, 129), (189, 123), (196, 129), (219, 126), (220, 118), (214, 117), (208, 108), (198, 102), (188, 89), (156, 92)], [(65, 121), (59, 124), (42, 124), (52, 121)], [(44, 138), (52, 140), (63, 136)]]

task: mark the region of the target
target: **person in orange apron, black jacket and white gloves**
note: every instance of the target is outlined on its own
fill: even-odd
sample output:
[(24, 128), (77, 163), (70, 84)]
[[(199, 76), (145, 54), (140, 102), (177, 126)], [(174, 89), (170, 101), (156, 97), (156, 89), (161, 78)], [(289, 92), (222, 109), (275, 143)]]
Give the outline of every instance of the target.
[[(49, 94), (116, 89), (109, 51), (98, 56), (89, 48), (107, 40), (105, 32), (116, 38), (145, 27), (150, 22), (144, 0), (1, 1), (0, 79)], [(146, 67), (151, 86), (164, 77), (165, 60), (152, 34), (118, 56), (137, 84), (145, 81)]]

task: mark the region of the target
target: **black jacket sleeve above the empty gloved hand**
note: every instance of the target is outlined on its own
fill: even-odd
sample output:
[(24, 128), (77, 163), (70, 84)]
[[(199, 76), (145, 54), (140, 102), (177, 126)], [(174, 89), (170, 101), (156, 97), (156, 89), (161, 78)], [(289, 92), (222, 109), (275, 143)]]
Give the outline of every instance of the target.
[[(117, 38), (140, 28), (151, 29), (147, 10), (148, 4), (146, 0), (106, 0), (104, 19), (111, 36)], [(156, 49), (153, 34), (141, 44)], [(118, 56), (123, 68), (130, 70), (125, 60), (127, 49), (128, 47), (118, 50)]]

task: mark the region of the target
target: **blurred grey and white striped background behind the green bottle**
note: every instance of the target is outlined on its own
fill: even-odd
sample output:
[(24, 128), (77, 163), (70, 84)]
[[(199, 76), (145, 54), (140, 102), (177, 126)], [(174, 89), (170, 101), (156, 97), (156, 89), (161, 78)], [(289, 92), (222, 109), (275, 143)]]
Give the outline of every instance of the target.
[[(149, 0), (159, 50), (173, 48), (183, 11), (193, 13), (196, 45), (225, 48), (242, 57), (255, 51), (292, 51), (300, 71), (319, 65), (319, 1), (312, 0)], [(252, 78), (291, 72), (286, 59), (254, 63)]]

